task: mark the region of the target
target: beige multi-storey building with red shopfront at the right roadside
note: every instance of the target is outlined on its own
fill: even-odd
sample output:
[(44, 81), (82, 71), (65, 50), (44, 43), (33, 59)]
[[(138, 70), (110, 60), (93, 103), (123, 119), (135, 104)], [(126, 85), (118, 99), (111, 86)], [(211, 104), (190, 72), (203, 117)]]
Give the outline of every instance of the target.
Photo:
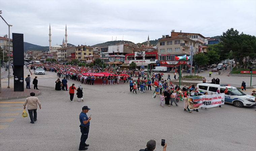
[(196, 41), (188, 38), (188, 35), (183, 37), (163, 36), (161, 40), (158, 40), (158, 62), (160, 62), (158, 65), (166, 66), (168, 70), (171, 70), (175, 65), (189, 64), (189, 50), (193, 49), (195, 44)]

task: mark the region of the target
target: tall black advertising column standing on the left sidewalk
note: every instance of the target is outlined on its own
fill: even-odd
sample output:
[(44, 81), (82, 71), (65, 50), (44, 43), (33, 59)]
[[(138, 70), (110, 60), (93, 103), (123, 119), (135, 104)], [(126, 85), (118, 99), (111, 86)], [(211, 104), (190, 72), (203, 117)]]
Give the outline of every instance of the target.
[(12, 33), (14, 92), (24, 92), (23, 34)]

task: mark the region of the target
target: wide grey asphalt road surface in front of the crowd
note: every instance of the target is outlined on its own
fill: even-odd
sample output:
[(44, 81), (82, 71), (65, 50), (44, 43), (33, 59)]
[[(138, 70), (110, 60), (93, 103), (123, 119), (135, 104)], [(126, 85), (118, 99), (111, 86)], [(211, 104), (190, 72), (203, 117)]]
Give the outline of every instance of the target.
[[(238, 84), (238, 79), (241, 77), (233, 82)], [(222, 108), (189, 113), (183, 111), (183, 102), (178, 102), (178, 107), (161, 107), (159, 97), (152, 98), (153, 91), (133, 94), (127, 83), (82, 85), (85, 101), (77, 102), (75, 95), (75, 102), (70, 102), (68, 91), (54, 90), (56, 80), (53, 72), (38, 75), (42, 109), (38, 108), (35, 124), (30, 123), (29, 117), (21, 116), (24, 98), (0, 104), (1, 125), (8, 125), (0, 128), (1, 151), (78, 150), (79, 113), (84, 105), (91, 108), (88, 115), (92, 114), (86, 142), (91, 151), (136, 151), (146, 148), (150, 139), (156, 140), (157, 151), (162, 150), (161, 139), (165, 139), (167, 151), (256, 148), (256, 107), (224, 104)], [(96, 81), (100, 83), (100, 79)], [(223, 81), (228, 80), (223, 76)], [(75, 87), (80, 84), (68, 80), (69, 86), (72, 83)]]

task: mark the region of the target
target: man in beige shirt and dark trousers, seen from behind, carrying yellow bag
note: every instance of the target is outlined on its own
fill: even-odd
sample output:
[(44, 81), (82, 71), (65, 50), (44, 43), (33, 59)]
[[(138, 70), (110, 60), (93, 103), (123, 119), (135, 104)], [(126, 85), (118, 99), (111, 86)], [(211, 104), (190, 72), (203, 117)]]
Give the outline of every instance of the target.
[[(24, 102), (24, 109), (26, 109), (26, 105), (28, 105), (28, 113), (30, 117), (30, 123), (35, 123), (37, 121), (37, 104), (39, 105), (39, 108), (41, 109), (41, 103), (39, 102), (39, 99), (35, 97), (35, 93), (31, 92), (30, 97), (28, 97)], [(34, 113), (34, 116), (33, 116)]]

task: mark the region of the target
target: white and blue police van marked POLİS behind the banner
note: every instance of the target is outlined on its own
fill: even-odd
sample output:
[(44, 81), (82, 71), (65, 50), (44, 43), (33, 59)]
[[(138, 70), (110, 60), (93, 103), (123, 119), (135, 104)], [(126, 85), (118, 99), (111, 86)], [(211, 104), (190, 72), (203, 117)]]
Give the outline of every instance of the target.
[(243, 107), (243, 106), (256, 106), (255, 97), (251, 95), (244, 94), (242, 91), (236, 89), (235, 87), (231, 86), (220, 86), (216, 84), (206, 84), (206, 83), (199, 83), (196, 86), (196, 90), (200, 90), (198, 95), (203, 95), (204, 92), (208, 92), (208, 94), (215, 94), (217, 90), (220, 93), (223, 93), (225, 89), (228, 90), (225, 93), (225, 102), (233, 104), (235, 107)]

